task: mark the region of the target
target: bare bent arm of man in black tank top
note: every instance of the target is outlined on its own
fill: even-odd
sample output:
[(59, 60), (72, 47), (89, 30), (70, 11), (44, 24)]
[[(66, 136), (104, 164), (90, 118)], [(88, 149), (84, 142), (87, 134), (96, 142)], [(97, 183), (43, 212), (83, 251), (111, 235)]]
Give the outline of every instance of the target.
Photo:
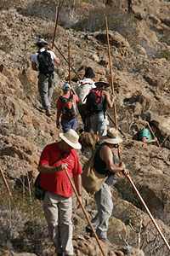
[(126, 168), (123, 162), (120, 165), (114, 164), (111, 148), (107, 146), (104, 146), (103, 148), (101, 148), (101, 150), (99, 151), (99, 156), (101, 157), (102, 160), (105, 161), (107, 169), (110, 172), (122, 172)]

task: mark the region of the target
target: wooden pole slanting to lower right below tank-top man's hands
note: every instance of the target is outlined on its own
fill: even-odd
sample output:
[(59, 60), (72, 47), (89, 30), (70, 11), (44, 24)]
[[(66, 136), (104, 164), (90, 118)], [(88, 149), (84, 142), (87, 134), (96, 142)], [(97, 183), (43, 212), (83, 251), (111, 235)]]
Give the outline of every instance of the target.
[(150, 219), (151, 219), (151, 221), (153, 222), (153, 224), (155, 224), (156, 230), (159, 232), (161, 238), (162, 238), (163, 241), (165, 242), (165, 244), (166, 244), (166, 246), (167, 246), (167, 248), (168, 248), (168, 250), (169, 250), (169, 252), (170, 252), (170, 246), (169, 246), (169, 244), (167, 243), (167, 240), (166, 240), (165, 236), (163, 236), (163, 234), (161, 233), (161, 230), (159, 229), (158, 225), (156, 224), (155, 219), (152, 217), (152, 215), (151, 215), (151, 213), (150, 213), (150, 210), (149, 210), (148, 207), (146, 206), (146, 204), (145, 204), (145, 202), (144, 202), (142, 196), (139, 194), (139, 191), (138, 191), (138, 189), (136, 188), (136, 186), (134, 185), (134, 183), (133, 183), (131, 177), (130, 177), (128, 174), (126, 175), (126, 177), (127, 177), (127, 179), (129, 180), (129, 182), (132, 184), (133, 189), (135, 190), (136, 194), (139, 196), (139, 200), (140, 200), (140, 201), (142, 202), (142, 204), (144, 205), (144, 209), (146, 210), (146, 212), (147, 212), (148, 215), (150, 216)]

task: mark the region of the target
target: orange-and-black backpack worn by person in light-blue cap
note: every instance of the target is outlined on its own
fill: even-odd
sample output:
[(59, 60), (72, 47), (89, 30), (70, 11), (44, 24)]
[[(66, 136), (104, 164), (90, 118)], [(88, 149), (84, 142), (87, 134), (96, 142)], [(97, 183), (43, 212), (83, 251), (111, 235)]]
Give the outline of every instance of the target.
[(73, 102), (73, 95), (71, 94), (68, 99), (63, 96), (59, 96), (60, 100), (63, 102), (63, 115), (65, 119), (74, 119), (77, 116), (76, 107)]

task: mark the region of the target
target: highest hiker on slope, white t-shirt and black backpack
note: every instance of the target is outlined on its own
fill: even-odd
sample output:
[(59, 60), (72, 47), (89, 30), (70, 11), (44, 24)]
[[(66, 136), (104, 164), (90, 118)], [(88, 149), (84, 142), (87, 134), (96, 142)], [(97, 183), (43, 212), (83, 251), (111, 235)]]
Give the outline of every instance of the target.
[(50, 116), (50, 103), (52, 102), (54, 90), (54, 64), (59, 64), (59, 59), (52, 50), (46, 50), (48, 42), (43, 38), (39, 38), (37, 43), (38, 51), (31, 56), (31, 68), (38, 71), (38, 90), (42, 99), (42, 107), (46, 110), (46, 114)]

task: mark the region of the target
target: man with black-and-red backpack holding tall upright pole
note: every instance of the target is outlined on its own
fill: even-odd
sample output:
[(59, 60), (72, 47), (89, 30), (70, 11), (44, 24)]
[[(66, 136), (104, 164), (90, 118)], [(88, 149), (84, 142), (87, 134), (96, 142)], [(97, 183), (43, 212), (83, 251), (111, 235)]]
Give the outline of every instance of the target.
[(87, 95), (88, 125), (92, 127), (94, 134), (104, 136), (107, 134), (107, 125), (109, 125), (106, 106), (112, 108), (116, 96), (111, 95), (110, 97), (109, 92), (105, 89), (109, 87), (105, 79), (99, 79), (99, 82), (95, 83), (95, 85), (96, 88), (90, 90)]

